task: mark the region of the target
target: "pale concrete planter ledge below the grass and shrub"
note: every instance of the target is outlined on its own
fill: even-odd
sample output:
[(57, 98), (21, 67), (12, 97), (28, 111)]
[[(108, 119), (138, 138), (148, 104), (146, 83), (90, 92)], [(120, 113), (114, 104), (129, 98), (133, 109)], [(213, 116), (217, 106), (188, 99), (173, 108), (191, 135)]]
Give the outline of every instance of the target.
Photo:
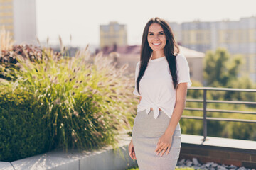
[[(14, 162), (0, 162), (2, 170), (89, 170), (89, 169), (128, 169), (137, 165), (137, 162), (129, 157), (128, 145), (131, 137), (122, 135), (119, 142), (119, 149), (114, 151), (112, 147), (92, 152), (48, 152), (46, 154), (36, 155), (20, 159)], [(11, 164), (13, 166), (11, 166)]]

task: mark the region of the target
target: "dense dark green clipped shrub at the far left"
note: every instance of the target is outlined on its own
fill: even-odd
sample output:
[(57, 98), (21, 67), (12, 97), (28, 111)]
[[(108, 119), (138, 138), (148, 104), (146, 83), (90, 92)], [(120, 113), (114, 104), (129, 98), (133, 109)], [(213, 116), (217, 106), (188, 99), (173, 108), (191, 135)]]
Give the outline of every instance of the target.
[(36, 96), (0, 86), (0, 160), (11, 162), (46, 152), (49, 145), (44, 109)]

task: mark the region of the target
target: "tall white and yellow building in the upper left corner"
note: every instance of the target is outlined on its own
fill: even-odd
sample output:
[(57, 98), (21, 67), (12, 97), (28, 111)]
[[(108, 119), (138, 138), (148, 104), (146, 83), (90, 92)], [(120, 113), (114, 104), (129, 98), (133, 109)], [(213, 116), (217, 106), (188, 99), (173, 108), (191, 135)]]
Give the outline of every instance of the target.
[(36, 44), (35, 0), (0, 0), (0, 28), (3, 27), (16, 44)]

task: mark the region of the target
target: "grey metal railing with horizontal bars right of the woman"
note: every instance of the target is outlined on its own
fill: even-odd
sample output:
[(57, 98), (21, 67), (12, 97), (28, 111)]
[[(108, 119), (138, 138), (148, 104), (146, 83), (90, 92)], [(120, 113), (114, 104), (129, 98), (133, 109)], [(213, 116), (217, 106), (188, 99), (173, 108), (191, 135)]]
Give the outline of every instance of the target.
[(207, 137), (207, 120), (217, 120), (217, 121), (233, 121), (242, 123), (256, 123), (256, 120), (247, 119), (233, 119), (233, 118), (213, 118), (207, 117), (208, 112), (218, 112), (218, 113), (241, 113), (241, 114), (252, 114), (256, 115), (255, 111), (231, 111), (222, 109), (210, 109), (207, 108), (207, 103), (230, 103), (230, 104), (250, 104), (256, 106), (255, 101), (218, 101), (218, 100), (207, 100), (207, 91), (240, 91), (240, 92), (256, 92), (256, 89), (231, 89), (231, 88), (215, 88), (215, 87), (190, 87), (189, 90), (203, 90), (203, 100), (198, 99), (186, 99), (186, 102), (200, 102), (203, 103), (203, 108), (185, 108), (187, 111), (203, 111), (203, 117), (192, 116), (192, 115), (182, 115), (181, 118), (197, 119), (203, 120), (203, 141)]

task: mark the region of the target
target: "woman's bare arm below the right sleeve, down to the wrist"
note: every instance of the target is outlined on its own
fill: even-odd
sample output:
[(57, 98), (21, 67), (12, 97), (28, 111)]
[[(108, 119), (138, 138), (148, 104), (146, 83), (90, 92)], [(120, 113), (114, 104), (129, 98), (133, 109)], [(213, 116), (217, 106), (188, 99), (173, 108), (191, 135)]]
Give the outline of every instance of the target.
[(185, 108), (187, 90), (187, 83), (178, 84), (176, 89), (176, 104), (174, 106), (174, 113), (171, 115), (170, 123), (165, 132), (166, 134), (171, 136), (174, 134), (176, 126), (178, 125), (178, 122), (181, 119), (181, 115)]

